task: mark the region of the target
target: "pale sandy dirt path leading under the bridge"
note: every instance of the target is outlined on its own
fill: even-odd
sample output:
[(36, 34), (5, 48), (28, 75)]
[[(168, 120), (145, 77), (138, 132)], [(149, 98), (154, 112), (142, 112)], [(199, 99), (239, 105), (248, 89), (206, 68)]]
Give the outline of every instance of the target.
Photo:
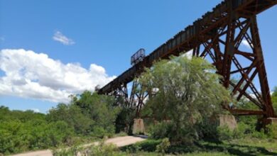
[[(135, 137), (135, 136), (124, 136), (124, 137), (116, 137), (116, 138), (110, 138), (106, 140), (105, 143), (112, 143), (116, 145), (117, 147), (124, 147), (126, 145), (131, 145), (134, 143), (141, 142), (143, 140), (146, 140), (145, 138), (141, 137)], [(90, 143), (83, 145), (83, 147), (87, 147), (89, 145), (97, 145), (98, 143)], [(13, 156), (52, 156), (51, 150), (38, 150), (36, 152), (26, 152), (18, 155), (13, 155)]]

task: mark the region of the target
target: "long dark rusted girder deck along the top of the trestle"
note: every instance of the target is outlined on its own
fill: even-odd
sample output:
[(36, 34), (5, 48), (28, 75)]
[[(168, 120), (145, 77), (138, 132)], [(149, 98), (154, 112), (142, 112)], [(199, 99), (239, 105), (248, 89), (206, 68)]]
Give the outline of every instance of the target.
[[(239, 11), (251, 11), (255, 4), (261, 4), (258, 5), (259, 7), (255, 8), (256, 13), (260, 13), (274, 5), (277, 4), (276, 0), (270, 0), (270, 1), (264, 1), (264, 0), (225, 0), (222, 1), (221, 4), (218, 4), (214, 9), (212, 9), (212, 12), (205, 13), (202, 18), (198, 19), (193, 23), (193, 26), (188, 26), (185, 28), (185, 30), (180, 31), (177, 35), (174, 36), (174, 38), (171, 38), (166, 43), (161, 45), (159, 48), (151, 52), (150, 55), (146, 57), (146, 59), (141, 62), (138, 65), (135, 65), (134, 67), (131, 67), (130, 69), (126, 70), (123, 74), (119, 75), (114, 81), (110, 82), (106, 86), (102, 87), (102, 89), (99, 90), (100, 94), (107, 94), (111, 92), (113, 89), (116, 89), (116, 87), (119, 87), (122, 83), (128, 83), (131, 82), (136, 75), (141, 74), (141, 70), (143, 67), (151, 67), (153, 64), (153, 61), (158, 60), (160, 58), (166, 58), (171, 53), (173, 53), (175, 50), (178, 50), (178, 48), (183, 47), (185, 45), (184, 49), (190, 50), (194, 48), (195, 46), (190, 45), (190, 41), (197, 40), (195, 38), (196, 35), (199, 36), (201, 33), (202, 35), (205, 35), (209, 33), (212, 29), (217, 28), (222, 23), (226, 22), (227, 17), (229, 14), (227, 13), (228, 7), (231, 7), (232, 5), (232, 11), (239, 15)], [(242, 17), (242, 16), (241, 16)], [(240, 18), (237, 16), (237, 18)], [(217, 19), (217, 20), (214, 20)], [(181, 50), (178, 50), (181, 51)], [(123, 80), (119, 81), (118, 79), (123, 78)]]

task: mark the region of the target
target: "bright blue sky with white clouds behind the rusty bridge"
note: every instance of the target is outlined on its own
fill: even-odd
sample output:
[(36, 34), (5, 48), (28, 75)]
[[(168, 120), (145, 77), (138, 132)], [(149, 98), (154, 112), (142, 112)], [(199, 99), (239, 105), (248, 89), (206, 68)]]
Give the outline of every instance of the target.
[[(35, 82), (40, 81), (45, 86), (54, 88), (49, 90), (40, 87), (42, 91), (53, 91), (53, 96), (65, 96), (68, 92), (55, 90), (56, 84), (75, 93), (87, 85), (108, 82), (114, 75), (119, 75), (130, 67), (130, 57), (136, 50), (145, 48), (148, 54), (200, 18), (202, 14), (211, 11), (212, 7), (219, 2), (220, 0), (205, 3), (202, 0), (0, 0), (0, 50), (6, 50), (1, 51), (5, 56), (18, 52), (18, 55), (13, 55), (14, 62), (18, 65), (28, 57), (24, 63), (30, 65), (20, 72), (25, 73), (26, 77), (31, 77), (30, 73), (38, 74), (36, 70), (39, 70), (39, 74), (34, 76), (36, 78), (28, 82), (30, 84), (33, 82), (32, 87), (36, 87)], [(271, 89), (277, 86), (275, 69), (277, 21), (274, 20), (276, 14), (275, 6), (258, 16), (261, 44)], [(57, 37), (55, 40), (54, 36)], [(40, 53), (47, 57), (39, 55)], [(29, 56), (36, 57), (38, 65), (32, 62), (34, 57), (29, 58)], [(51, 67), (56, 68), (58, 73), (62, 73), (60, 71), (69, 73), (54, 75), (55, 77), (63, 75), (70, 77), (70, 74), (77, 72), (82, 77), (76, 76), (75, 79), (70, 79), (70, 82), (76, 82), (78, 79), (84, 82), (90, 79), (92, 82), (89, 84), (78, 82), (74, 87), (61, 84), (61, 81), (54, 79), (54, 76), (54, 78), (50, 77), (52, 69), (43, 66), (48, 62), (53, 63)], [(7, 64), (9, 66), (6, 67), (11, 68), (17, 65), (11, 62)], [(37, 65), (36, 69), (33, 69), (32, 65)], [(30, 73), (26, 72), (28, 69), (31, 70)], [(44, 70), (46, 74), (43, 73)], [(11, 72), (11, 74), (14, 73)], [(0, 77), (5, 75), (6, 72), (0, 69)], [(18, 78), (16, 83), (18, 84), (19, 81), (21, 83), (21, 80)], [(63, 79), (63, 81), (66, 80)], [(64, 101), (63, 98), (49, 101), (48, 96), (43, 95), (41, 91), (39, 95), (26, 95), (22, 91), (29, 88), (24, 89), (16, 94), (12, 94), (12, 91), (9, 94), (1, 92), (0, 105), (20, 110), (39, 109), (40, 112), (45, 113), (59, 100)]]

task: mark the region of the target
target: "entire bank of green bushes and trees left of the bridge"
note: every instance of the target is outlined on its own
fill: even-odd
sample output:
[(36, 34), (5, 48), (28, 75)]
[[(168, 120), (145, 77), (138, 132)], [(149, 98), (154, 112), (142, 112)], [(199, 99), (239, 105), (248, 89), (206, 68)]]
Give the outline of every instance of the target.
[[(0, 107), (0, 153), (75, 145), (89, 139), (112, 136), (119, 108), (113, 100), (85, 91), (72, 96), (70, 104), (58, 104), (48, 114), (10, 111)], [(85, 140), (83, 138), (86, 138)]]

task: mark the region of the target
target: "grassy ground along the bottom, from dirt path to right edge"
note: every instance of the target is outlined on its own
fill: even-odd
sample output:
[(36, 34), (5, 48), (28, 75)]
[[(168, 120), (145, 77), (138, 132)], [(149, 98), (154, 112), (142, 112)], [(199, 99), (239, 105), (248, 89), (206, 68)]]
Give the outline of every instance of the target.
[[(95, 152), (95, 155), (162, 155), (156, 152), (156, 146), (161, 144), (161, 140), (148, 139), (141, 143), (129, 145), (126, 147), (117, 148), (110, 145), (92, 146), (87, 148), (87, 151)], [(82, 150), (81, 150), (82, 151)], [(73, 155), (74, 150), (60, 153), (59, 155)], [(205, 140), (195, 143), (195, 145), (179, 145), (170, 146), (166, 151), (166, 155), (200, 155), (200, 156), (224, 156), (224, 155), (277, 155), (277, 140), (273, 139), (258, 139), (246, 136), (241, 139), (214, 142)]]

